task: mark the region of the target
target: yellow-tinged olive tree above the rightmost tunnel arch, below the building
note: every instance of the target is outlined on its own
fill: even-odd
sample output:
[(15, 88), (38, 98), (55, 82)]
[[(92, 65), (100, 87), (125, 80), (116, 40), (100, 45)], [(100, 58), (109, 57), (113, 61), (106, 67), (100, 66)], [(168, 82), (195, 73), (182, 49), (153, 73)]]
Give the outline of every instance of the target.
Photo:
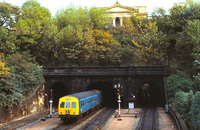
[(139, 32), (132, 40), (137, 61), (147, 65), (164, 64), (168, 43), (166, 35), (158, 31), (156, 22), (149, 21), (145, 28), (139, 28)]

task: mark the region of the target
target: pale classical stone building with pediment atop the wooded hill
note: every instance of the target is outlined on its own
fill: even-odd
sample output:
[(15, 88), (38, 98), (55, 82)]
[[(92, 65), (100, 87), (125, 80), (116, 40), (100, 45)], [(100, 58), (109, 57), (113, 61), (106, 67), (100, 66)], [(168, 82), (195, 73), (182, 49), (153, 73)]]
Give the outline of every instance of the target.
[(113, 18), (113, 26), (122, 26), (123, 18), (131, 17), (131, 13), (137, 14), (139, 17), (146, 18), (146, 6), (123, 6), (118, 3), (118, 1), (110, 7), (107, 7), (107, 11), (110, 13), (110, 16)]

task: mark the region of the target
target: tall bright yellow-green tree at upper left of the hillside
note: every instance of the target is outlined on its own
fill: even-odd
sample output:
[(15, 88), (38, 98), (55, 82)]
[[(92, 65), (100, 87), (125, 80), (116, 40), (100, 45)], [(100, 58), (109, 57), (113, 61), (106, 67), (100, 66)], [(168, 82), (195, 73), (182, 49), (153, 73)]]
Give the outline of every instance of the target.
[(36, 0), (27, 0), (21, 7), (21, 18), (17, 22), (20, 51), (30, 51), (38, 59), (42, 55), (41, 37), (51, 18), (49, 10)]

